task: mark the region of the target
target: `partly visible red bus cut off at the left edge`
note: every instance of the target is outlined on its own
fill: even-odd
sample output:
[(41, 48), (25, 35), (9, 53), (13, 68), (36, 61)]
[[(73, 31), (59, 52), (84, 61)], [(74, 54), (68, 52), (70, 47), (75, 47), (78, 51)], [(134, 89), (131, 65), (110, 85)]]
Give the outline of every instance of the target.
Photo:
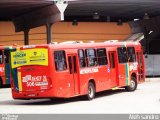
[(0, 87), (10, 85), (10, 50), (12, 47), (0, 46)]

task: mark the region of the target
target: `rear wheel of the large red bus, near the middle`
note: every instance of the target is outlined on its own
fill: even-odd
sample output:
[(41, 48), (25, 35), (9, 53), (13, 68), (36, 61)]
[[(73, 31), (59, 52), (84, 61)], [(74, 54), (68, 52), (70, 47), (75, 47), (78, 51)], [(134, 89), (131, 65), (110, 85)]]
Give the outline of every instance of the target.
[(87, 94), (87, 98), (88, 100), (92, 100), (95, 97), (95, 86), (92, 82), (89, 82), (88, 84), (88, 94)]

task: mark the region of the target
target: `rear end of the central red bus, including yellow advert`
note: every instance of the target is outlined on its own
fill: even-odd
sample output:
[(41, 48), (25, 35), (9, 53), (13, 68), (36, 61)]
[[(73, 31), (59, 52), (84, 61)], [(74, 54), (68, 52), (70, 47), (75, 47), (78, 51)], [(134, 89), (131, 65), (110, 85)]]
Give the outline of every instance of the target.
[(48, 47), (21, 47), (11, 52), (13, 98), (40, 98), (53, 94), (48, 51)]

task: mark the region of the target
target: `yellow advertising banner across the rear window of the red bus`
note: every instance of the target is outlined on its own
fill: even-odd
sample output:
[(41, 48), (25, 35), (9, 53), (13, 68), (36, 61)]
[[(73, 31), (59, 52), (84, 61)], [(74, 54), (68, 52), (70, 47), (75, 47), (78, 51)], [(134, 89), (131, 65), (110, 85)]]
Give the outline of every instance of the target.
[(11, 67), (17, 68), (25, 65), (48, 66), (48, 49), (34, 48), (11, 52)]

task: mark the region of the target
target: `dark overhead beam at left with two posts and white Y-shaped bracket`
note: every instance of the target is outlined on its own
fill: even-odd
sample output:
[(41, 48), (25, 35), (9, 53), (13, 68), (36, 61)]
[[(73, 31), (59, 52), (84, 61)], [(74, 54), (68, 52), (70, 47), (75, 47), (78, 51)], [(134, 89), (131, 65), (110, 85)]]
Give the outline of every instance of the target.
[(25, 45), (29, 44), (30, 29), (46, 25), (47, 43), (51, 43), (51, 25), (64, 20), (67, 5), (68, 2), (64, 0), (2, 0), (0, 1), (0, 15), (2, 15), (0, 19), (12, 20), (16, 32), (24, 31)]

